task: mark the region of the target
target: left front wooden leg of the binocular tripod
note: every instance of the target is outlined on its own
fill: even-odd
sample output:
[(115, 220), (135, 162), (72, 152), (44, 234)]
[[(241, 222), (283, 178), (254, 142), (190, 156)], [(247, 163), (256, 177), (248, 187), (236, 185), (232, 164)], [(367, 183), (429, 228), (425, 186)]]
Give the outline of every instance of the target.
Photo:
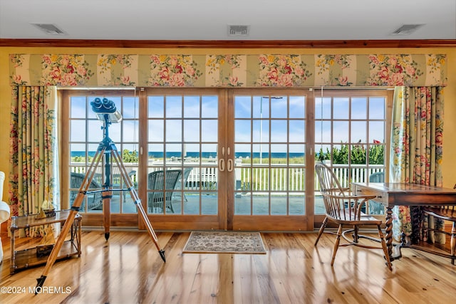
[(65, 224), (63, 224), (63, 228), (61, 230), (61, 233), (58, 235), (58, 239), (56, 243), (54, 244), (54, 247), (52, 248), (51, 253), (49, 254), (48, 261), (46, 262), (46, 266), (44, 268), (43, 274), (41, 275), (40, 278), (37, 278), (36, 281), (36, 290), (35, 294), (38, 293), (38, 291), (43, 287), (44, 281), (46, 280), (49, 271), (51, 271), (51, 267), (53, 266), (54, 263), (56, 263), (56, 259), (58, 256), (58, 253), (60, 252), (63, 242), (65, 241), (66, 236), (68, 235), (68, 231), (70, 231), (71, 226), (73, 226), (74, 219), (76, 217), (76, 214), (78, 214), (79, 208), (81, 207), (81, 204), (83, 203), (84, 197), (86, 196), (86, 193), (90, 187), (90, 182), (92, 182), (93, 176), (95, 175), (95, 170), (94, 168), (98, 166), (100, 163), (100, 155), (103, 154), (105, 151), (105, 148), (99, 148), (93, 157), (93, 161), (90, 164), (90, 167), (88, 169), (88, 172), (86, 174), (86, 177), (83, 179), (83, 183), (81, 184), (81, 187), (79, 188), (78, 195), (76, 196), (76, 199), (73, 201), (73, 206), (71, 206), (71, 211), (68, 214), (68, 218), (65, 221)]

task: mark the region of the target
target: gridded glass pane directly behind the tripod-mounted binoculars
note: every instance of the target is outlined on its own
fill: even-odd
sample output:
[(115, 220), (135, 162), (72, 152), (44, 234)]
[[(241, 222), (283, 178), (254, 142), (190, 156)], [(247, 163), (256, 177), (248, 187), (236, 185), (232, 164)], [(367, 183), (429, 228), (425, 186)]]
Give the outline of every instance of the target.
[[(100, 147), (103, 135), (103, 122), (93, 112), (90, 103), (95, 98), (106, 98), (115, 104), (116, 109), (122, 115), (120, 122), (112, 123), (108, 126), (108, 137), (114, 145), (109, 145), (110, 149), (118, 150), (122, 156), (123, 166), (127, 169), (128, 177), (132, 179), (136, 189), (138, 189), (138, 97), (134, 93), (125, 91), (122, 93), (103, 92), (103, 91), (72, 91), (69, 97), (69, 206), (73, 204), (81, 182), (88, 173), (90, 164), (97, 149)], [(103, 162), (94, 168), (95, 174), (89, 189), (100, 190), (105, 184), (105, 169)], [(110, 211), (113, 214), (133, 214), (136, 213), (136, 206), (131, 201), (128, 191), (125, 189), (125, 182), (120, 175), (120, 170), (113, 162), (110, 166), (110, 186), (113, 188), (113, 197), (110, 200)], [(103, 210), (101, 194), (88, 193), (81, 205), (81, 212), (101, 213)]]

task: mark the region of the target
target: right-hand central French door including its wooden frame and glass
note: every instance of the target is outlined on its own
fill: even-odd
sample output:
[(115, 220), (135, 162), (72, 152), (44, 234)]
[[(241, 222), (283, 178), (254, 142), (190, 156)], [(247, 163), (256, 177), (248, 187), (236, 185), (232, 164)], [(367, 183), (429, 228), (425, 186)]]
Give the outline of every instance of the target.
[(233, 90), (229, 95), (228, 148), (234, 151), (229, 229), (314, 229), (308, 93)]

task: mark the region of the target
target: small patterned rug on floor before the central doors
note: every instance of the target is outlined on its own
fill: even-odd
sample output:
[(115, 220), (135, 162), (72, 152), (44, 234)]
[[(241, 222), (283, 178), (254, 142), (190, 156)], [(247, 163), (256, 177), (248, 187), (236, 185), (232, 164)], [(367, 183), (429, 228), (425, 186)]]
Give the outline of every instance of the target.
[(192, 231), (182, 253), (260, 253), (265, 254), (259, 232)]

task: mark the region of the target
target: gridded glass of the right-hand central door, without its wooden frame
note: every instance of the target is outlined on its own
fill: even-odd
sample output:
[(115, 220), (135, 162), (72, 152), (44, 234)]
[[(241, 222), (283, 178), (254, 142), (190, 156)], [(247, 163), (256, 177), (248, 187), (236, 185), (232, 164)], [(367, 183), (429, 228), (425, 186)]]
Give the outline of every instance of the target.
[(249, 216), (272, 229), (279, 218), (306, 216), (304, 95), (235, 94), (234, 151), (235, 223)]

